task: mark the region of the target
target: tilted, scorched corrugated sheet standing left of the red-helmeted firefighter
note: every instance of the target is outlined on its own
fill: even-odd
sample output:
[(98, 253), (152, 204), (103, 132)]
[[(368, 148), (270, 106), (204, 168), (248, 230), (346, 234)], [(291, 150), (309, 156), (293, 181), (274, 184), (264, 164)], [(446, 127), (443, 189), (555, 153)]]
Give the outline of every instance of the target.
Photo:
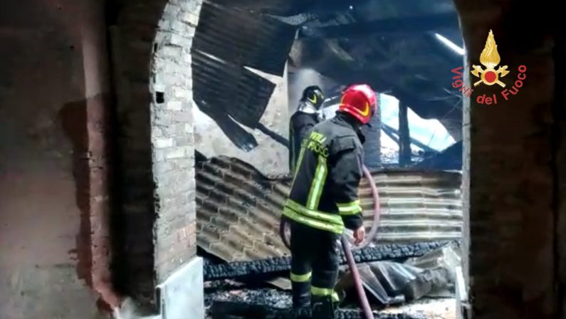
[(284, 183), (285, 180), (268, 179), (250, 165), (226, 157), (198, 164), (199, 246), (225, 261), (288, 253), (278, 238), (278, 213), (288, 188)]

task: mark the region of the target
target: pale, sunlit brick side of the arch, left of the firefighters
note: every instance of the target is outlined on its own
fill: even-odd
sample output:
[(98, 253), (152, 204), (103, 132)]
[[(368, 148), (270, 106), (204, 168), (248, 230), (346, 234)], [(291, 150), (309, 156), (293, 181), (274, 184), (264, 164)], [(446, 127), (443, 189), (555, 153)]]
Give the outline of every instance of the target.
[(170, 1), (155, 38), (151, 65), (153, 171), (158, 208), (155, 263), (158, 281), (196, 253), (192, 38), (201, 1)]

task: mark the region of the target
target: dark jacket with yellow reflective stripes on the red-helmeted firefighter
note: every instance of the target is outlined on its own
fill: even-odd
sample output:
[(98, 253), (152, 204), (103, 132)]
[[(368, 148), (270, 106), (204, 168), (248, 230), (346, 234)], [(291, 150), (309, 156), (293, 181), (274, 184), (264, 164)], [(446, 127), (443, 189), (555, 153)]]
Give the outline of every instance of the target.
[(342, 234), (362, 226), (357, 191), (363, 148), (355, 120), (337, 113), (307, 132), (283, 215), (316, 229)]

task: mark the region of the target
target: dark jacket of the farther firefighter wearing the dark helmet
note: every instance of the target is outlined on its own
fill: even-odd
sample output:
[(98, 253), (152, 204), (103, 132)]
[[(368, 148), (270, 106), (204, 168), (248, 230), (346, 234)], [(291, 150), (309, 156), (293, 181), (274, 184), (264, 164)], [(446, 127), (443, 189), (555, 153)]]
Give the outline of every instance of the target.
[(300, 142), (308, 130), (318, 124), (317, 113), (295, 112), (289, 123), (289, 171), (295, 172), (296, 163), (300, 152)]

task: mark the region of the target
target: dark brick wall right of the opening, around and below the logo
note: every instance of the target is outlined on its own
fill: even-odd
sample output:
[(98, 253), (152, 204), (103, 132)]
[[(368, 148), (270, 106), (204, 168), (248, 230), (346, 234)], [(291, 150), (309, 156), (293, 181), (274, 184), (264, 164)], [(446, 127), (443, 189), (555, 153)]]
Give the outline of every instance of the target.
[[(527, 78), (513, 100), (501, 88), (478, 87), (465, 103), (464, 200), (469, 198), (469, 276), (473, 318), (556, 318), (555, 197), (552, 141), (555, 100), (553, 19), (548, 6), (522, 1), (456, 1), (468, 49), (468, 66), (479, 64), (488, 32), (516, 79)], [(467, 74), (468, 77), (470, 76)], [(468, 78), (468, 83), (475, 79)], [(507, 83), (512, 81), (505, 79)], [(514, 80), (513, 80), (514, 81)], [(508, 84), (510, 86), (512, 84)], [(481, 93), (480, 93), (481, 92)], [(476, 94), (499, 95), (497, 105), (479, 105)], [(562, 165), (563, 166), (563, 165)], [(466, 184), (469, 183), (469, 189)]]

